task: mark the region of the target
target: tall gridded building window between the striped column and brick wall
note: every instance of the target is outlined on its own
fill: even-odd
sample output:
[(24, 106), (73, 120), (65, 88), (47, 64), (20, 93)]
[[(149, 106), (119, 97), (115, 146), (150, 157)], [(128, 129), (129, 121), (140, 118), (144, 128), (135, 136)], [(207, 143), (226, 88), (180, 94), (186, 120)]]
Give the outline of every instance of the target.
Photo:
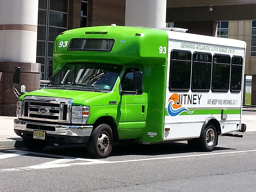
[(55, 38), (68, 29), (69, 0), (39, 0), (36, 62), (41, 63), (41, 79), (52, 77), (52, 50)]

